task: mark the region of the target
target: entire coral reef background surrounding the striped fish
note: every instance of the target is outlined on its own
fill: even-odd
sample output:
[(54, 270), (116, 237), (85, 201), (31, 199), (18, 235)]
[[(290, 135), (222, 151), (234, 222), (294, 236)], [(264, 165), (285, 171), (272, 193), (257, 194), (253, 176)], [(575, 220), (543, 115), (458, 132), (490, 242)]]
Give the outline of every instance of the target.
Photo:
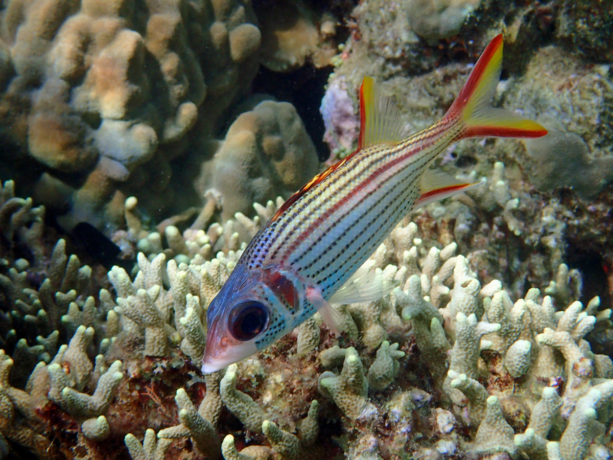
[[(484, 185), (408, 216), (397, 288), (200, 372), (246, 243), (355, 150), (375, 77), (411, 132), (502, 33), (463, 140)], [(0, 459), (605, 460), (613, 454), (613, 2), (4, 0)]]

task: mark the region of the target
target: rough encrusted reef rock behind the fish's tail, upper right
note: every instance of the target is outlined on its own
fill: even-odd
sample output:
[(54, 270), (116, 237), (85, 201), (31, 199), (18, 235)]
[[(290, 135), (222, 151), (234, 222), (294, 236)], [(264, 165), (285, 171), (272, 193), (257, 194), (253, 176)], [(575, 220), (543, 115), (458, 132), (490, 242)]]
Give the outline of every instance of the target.
[[(376, 77), (394, 98), (409, 131), (430, 125), (451, 105), (485, 44), (502, 32), (503, 77), (495, 104), (521, 111), (549, 134), (453, 146), (437, 167), (493, 182), (489, 190), (481, 188), (484, 193), (469, 193), (470, 200), (432, 205), (428, 213), (461, 252), (484, 250), (498, 270), (490, 275), (513, 286), (517, 297), (543, 285), (565, 262), (580, 270), (596, 267), (600, 281), (585, 279), (582, 301), (598, 294), (609, 302), (613, 240), (605, 235), (613, 190), (613, 78), (611, 59), (604, 56), (613, 43), (606, 27), (589, 29), (583, 21), (587, 10), (598, 11), (602, 21), (611, 14), (599, 1), (562, 3), (360, 3), (352, 12), (351, 35), (333, 59), (321, 105), (324, 139), (330, 162), (355, 148), (365, 75)], [(600, 54), (590, 47), (600, 47)], [(501, 173), (497, 162), (505, 166), (504, 193), (494, 190)], [(515, 277), (517, 270), (524, 280)]]

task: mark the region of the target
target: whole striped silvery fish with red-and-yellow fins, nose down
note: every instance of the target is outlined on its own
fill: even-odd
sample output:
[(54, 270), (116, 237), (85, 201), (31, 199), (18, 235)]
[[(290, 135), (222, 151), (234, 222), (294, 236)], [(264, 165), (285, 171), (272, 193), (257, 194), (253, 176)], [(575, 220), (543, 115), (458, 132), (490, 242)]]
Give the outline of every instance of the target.
[(397, 106), (364, 78), (357, 150), (289, 197), (249, 242), (208, 306), (202, 372), (264, 350), (315, 312), (339, 334), (343, 321), (330, 304), (389, 293), (394, 286), (365, 261), (411, 211), (479, 185), (430, 169), (449, 145), (547, 134), (535, 121), (492, 107), (502, 48), (498, 35), (446, 114), (411, 136)]

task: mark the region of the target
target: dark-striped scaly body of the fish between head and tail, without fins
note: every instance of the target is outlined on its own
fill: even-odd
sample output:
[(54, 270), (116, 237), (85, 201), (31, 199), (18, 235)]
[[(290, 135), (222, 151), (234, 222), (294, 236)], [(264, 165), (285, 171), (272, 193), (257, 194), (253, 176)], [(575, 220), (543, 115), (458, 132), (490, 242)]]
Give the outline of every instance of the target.
[[(274, 261), (289, 263), (303, 276), (317, 278), (327, 298), (406, 216), (417, 196), (417, 183), (413, 187), (402, 184), (415, 182), (414, 178), (421, 176), (436, 156), (459, 136), (456, 131), (460, 130), (435, 126), (393, 147), (378, 145), (357, 151), (326, 180), (307, 190), (271, 221), (270, 230), (266, 232), (272, 241), (270, 247), (259, 248), (251, 257), (264, 265)], [(414, 155), (417, 152), (421, 153), (419, 158)], [(392, 188), (392, 183), (398, 186)], [(368, 198), (364, 199), (356, 191), (366, 184), (370, 190), (365, 191)], [(368, 205), (377, 199), (382, 202)], [(344, 202), (341, 212), (330, 213), (340, 202)], [(394, 212), (384, 212), (385, 207), (394, 205)], [(366, 242), (365, 237), (357, 237), (356, 228), (369, 216), (381, 217), (359, 228), (367, 234), (369, 240)], [(278, 228), (281, 231), (276, 231)], [(276, 248), (283, 250), (275, 252)], [(351, 264), (348, 259), (352, 260)], [(319, 262), (313, 263), (313, 260)], [(339, 272), (339, 267), (344, 269)], [(335, 273), (337, 275), (333, 276)]]

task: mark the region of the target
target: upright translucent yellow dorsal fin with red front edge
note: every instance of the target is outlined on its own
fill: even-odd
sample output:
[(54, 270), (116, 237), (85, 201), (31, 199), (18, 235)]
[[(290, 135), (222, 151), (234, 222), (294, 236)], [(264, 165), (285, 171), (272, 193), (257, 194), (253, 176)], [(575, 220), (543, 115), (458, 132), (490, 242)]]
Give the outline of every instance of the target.
[(368, 145), (398, 144), (405, 137), (405, 127), (394, 102), (381, 93), (373, 77), (364, 77), (360, 86), (357, 150)]

